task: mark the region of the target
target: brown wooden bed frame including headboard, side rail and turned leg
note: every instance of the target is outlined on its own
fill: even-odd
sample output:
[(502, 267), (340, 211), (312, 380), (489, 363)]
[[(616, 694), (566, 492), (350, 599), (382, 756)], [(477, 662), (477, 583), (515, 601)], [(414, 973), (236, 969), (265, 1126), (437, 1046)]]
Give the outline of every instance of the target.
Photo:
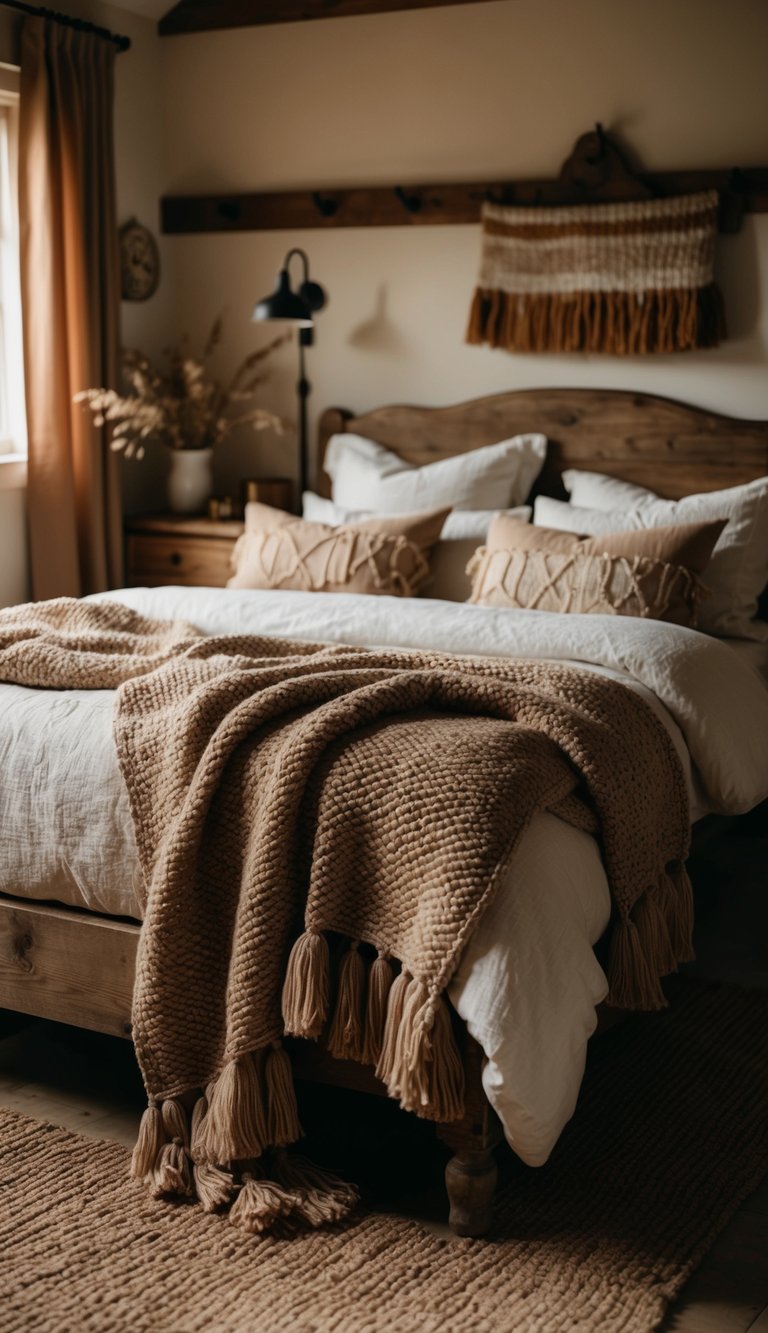
[[(364, 416), (331, 408), (320, 420), (320, 468), (333, 433), (357, 432), (412, 464), (431, 463), (521, 432), (549, 440), (537, 492), (563, 496), (567, 467), (611, 473), (679, 499), (768, 473), (768, 421), (704, 412), (645, 393), (524, 389), (447, 408), (385, 407)], [(320, 489), (329, 484), (321, 473)], [(0, 894), (0, 1006), (131, 1037), (139, 926), (133, 921)], [(467, 1114), (439, 1125), (453, 1152), (445, 1180), (451, 1225), (480, 1236), (489, 1225), (500, 1126), (483, 1093), (481, 1052), (457, 1024), (467, 1068)], [(384, 1094), (372, 1069), (295, 1042), (297, 1077)]]

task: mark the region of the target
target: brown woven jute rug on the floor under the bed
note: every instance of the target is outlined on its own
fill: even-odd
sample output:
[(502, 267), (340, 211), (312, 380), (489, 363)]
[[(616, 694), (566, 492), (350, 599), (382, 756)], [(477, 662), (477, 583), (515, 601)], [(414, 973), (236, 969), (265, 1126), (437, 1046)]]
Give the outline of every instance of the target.
[(509, 1172), (483, 1241), (365, 1210), (249, 1237), (152, 1202), (123, 1148), (3, 1112), (3, 1330), (647, 1333), (768, 1170), (768, 993), (696, 984), (593, 1045), (552, 1161)]

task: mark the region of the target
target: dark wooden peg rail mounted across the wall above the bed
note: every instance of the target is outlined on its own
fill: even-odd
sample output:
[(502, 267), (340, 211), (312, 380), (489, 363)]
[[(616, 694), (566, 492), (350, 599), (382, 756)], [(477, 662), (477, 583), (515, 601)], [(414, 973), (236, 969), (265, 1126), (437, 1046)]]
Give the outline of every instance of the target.
[[(720, 192), (720, 231), (737, 232), (744, 213), (768, 212), (768, 167), (744, 171), (637, 172), (649, 196)], [(596, 196), (556, 180), (469, 181), (460, 185), (375, 185), (249, 195), (187, 195), (161, 200), (163, 231), (304, 231), (336, 227), (435, 227), (477, 223), (483, 201), (584, 204), (627, 199), (621, 189)], [(631, 196), (629, 196), (631, 197)]]

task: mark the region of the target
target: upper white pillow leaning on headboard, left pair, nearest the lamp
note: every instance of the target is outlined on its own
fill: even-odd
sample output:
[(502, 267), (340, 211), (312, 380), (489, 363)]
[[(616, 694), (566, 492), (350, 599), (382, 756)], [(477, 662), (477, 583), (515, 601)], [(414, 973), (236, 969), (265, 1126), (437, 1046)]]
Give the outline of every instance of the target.
[(543, 435), (516, 435), (500, 444), (412, 468), (375, 440), (333, 435), (324, 468), (336, 504), (373, 513), (424, 509), (499, 509), (523, 504), (547, 453)]

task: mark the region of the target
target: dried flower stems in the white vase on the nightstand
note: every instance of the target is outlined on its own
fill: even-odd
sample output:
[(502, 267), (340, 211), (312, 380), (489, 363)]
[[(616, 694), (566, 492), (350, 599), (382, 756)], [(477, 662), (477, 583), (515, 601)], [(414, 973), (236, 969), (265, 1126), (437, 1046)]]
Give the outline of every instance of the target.
[(123, 452), (127, 459), (143, 459), (144, 447), (151, 441), (169, 449), (211, 449), (236, 427), (281, 431), (283, 421), (273, 412), (256, 407), (237, 411), (236, 407), (253, 399), (267, 379), (261, 364), (288, 337), (289, 333), (284, 333), (252, 352), (229, 384), (221, 385), (207, 367), (221, 340), (220, 316), (201, 356), (189, 356), (183, 339), (165, 352), (168, 371), (164, 373), (143, 352), (127, 348), (123, 369), (133, 392), (121, 395), (115, 389), (83, 389), (75, 395), (75, 401), (91, 408), (95, 425), (113, 425), (111, 448)]

